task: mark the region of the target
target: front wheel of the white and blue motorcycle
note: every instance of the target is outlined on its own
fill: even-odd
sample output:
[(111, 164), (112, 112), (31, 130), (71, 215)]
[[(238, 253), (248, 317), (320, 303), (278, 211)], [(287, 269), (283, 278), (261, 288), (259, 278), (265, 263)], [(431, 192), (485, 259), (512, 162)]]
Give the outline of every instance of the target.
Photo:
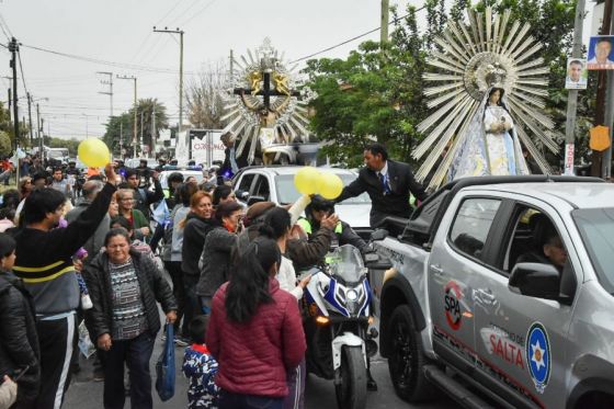
[(361, 346), (341, 349), (341, 383), (334, 386), (339, 409), (363, 409), (366, 402), (366, 367)]

